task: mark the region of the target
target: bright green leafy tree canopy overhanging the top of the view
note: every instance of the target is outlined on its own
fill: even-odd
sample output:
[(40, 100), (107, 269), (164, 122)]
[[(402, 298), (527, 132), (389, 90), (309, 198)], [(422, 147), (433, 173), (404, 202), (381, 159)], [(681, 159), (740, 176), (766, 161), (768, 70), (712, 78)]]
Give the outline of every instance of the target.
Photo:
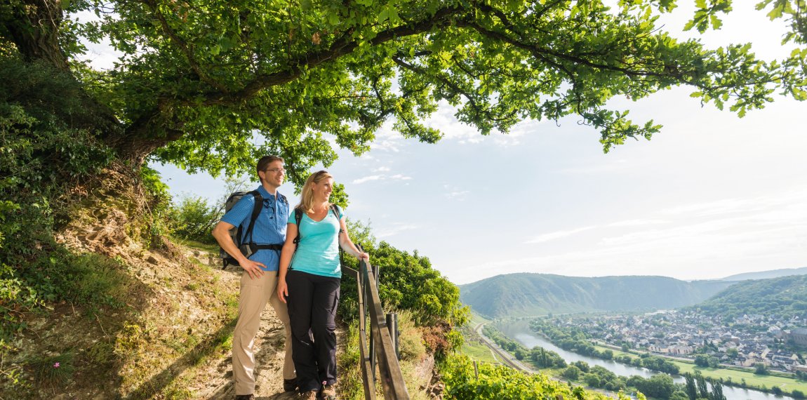
[[(33, 1), (33, 0), (31, 0)], [(20, 3), (12, 2), (10, 7)], [(644, 98), (675, 85), (744, 115), (779, 91), (803, 100), (807, 50), (756, 60), (747, 44), (710, 50), (656, 26), (675, 0), (73, 0), (88, 23), (65, 20), (61, 48), (94, 98), (157, 160), (191, 172), (249, 173), (278, 153), (291, 178), (336, 158), (333, 144), (366, 152), (387, 120), (433, 143), (423, 121), (441, 101), (482, 134), (523, 119), (579, 115), (604, 150), (650, 138), (612, 98)], [(696, 0), (690, 27), (719, 28), (730, 0)], [(803, 0), (763, 0), (805, 44)], [(108, 37), (114, 69), (81, 65), (81, 38)], [(147, 129), (136, 129), (140, 127)], [(105, 135), (111, 135), (109, 133)], [(114, 140), (108, 140), (114, 142)]]

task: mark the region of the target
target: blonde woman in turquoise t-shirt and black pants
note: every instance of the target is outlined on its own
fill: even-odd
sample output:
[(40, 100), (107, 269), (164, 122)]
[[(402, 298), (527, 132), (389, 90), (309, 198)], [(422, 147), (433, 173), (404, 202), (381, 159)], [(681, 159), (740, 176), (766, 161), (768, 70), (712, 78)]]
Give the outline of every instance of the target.
[(308, 177), (295, 207), (295, 212), (302, 212), (299, 227), (292, 212), (280, 255), (278, 297), (288, 304), (299, 393), (311, 400), (318, 393), (328, 400), (337, 398), (333, 385), (337, 381), (339, 247), (359, 260), (370, 260), (350, 240), (345, 214), (328, 202), (332, 190), (333, 177), (327, 171)]

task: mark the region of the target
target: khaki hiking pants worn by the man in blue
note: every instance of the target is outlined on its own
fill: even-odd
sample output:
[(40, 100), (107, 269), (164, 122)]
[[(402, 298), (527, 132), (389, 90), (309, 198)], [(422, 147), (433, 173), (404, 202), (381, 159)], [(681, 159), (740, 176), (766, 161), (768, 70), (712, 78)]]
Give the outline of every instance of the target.
[[(262, 277), (255, 279), (251, 279), (249, 273), (241, 274), (238, 322), (232, 335), (232, 377), (236, 381), (236, 395), (255, 392), (255, 335), (261, 324), (261, 312), (266, 307), (266, 302), (272, 304), (274, 313), (278, 315), (286, 332), (283, 379), (295, 379), (295, 365), (291, 359), (289, 313), (286, 303), (278, 298), (277, 274), (277, 271), (264, 271)], [(264, 348), (264, 351), (269, 349)]]

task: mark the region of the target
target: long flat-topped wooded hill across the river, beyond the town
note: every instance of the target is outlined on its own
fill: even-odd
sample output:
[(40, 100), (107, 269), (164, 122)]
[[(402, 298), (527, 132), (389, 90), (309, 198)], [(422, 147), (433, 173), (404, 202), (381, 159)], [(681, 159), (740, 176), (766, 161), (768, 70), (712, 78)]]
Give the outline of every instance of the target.
[(692, 306), (731, 281), (671, 277), (564, 277), (512, 273), (460, 285), (460, 299), (480, 315), (546, 315), (583, 311), (659, 310)]

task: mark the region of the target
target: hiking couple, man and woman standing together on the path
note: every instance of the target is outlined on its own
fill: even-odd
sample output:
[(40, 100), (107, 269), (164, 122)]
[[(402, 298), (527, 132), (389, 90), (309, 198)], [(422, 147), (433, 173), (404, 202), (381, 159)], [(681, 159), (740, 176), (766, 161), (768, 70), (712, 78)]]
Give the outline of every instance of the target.
[[(257, 162), (261, 180), (257, 192), (263, 206), (255, 220), (251, 240), (258, 248), (244, 256), (229, 235), (233, 227), (246, 231), (255, 197), (245, 195), (213, 229), (213, 236), (245, 273), (241, 275), (238, 322), (232, 337), (232, 375), (236, 400), (254, 398), (254, 339), (261, 311), (270, 302), (286, 330), (283, 389), (299, 390), (300, 398), (336, 399), (337, 335), (335, 317), (339, 303), (341, 269), (339, 248), (360, 260), (369, 260), (350, 240), (345, 214), (328, 198), (333, 177), (313, 173), (303, 185), (296, 206), (301, 218), (290, 213), (289, 202), (278, 193), (286, 177), (284, 161), (264, 156)], [(298, 214), (298, 215), (299, 215)], [(299, 226), (298, 226), (299, 223)], [(295, 240), (298, 237), (299, 241)], [(247, 239), (242, 238), (242, 243)], [(296, 243), (295, 243), (296, 242)], [(278, 250), (282, 244), (282, 250)], [(264, 246), (266, 247), (266, 246)]]

